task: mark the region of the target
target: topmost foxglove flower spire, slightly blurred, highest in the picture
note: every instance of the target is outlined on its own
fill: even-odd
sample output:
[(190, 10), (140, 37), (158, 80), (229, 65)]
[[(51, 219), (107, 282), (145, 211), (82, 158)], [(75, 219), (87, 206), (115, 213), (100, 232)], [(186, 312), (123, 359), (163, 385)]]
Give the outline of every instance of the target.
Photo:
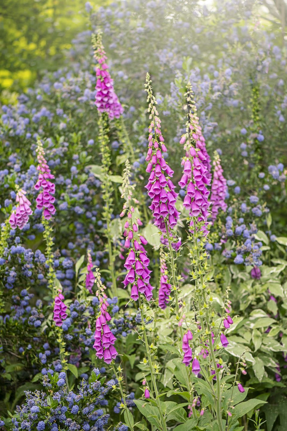
[(99, 112), (106, 112), (110, 119), (120, 118), (123, 114), (123, 107), (114, 91), (114, 81), (108, 71), (102, 35), (100, 33), (94, 34), (92, 41), (94, 57), (98, 61), (95, 69), (97, 77), (95, 105)]

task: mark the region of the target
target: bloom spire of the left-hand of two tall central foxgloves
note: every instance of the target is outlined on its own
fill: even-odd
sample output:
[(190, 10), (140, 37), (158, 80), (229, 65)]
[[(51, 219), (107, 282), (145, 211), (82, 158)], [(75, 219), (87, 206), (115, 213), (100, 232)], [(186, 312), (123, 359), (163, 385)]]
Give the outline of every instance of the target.
[(148, 94), (148, 112), (151, 124), (148, 128), (148, 155), (146, 161), (148, 166), (148, 184), (145, 188), (148, 190), (148, 196), (152, 199), (151, 209), (155, 222), (154, 225), (162, 232), (166, 232), (166, 223), (170, 229), (176, 226), (179, 219), (179, 212), (176, 210), (176, 198), (178, 194), (174, 191), (176, 188), (171, 178), (173, 170), (167, 165), (162, 152), (166, 152), (164, 137), (160, 130), (160, 119), (156, 109), (157, 101), (152, 94), (150, 75), (146, 75), (145, 91)]

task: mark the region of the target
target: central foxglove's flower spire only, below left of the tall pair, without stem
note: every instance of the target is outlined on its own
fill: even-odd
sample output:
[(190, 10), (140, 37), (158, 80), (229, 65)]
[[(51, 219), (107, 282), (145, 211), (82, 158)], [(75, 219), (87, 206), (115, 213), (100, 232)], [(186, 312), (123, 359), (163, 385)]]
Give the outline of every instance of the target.
[(131, 201), (139, 203), (137, 199), (132, 197), (133, 188), (130, 184), (130, 163), (127, 160), (123, 174), (123, 194), (121, 196), (122, 198), (125, 197), (127, 202), (124, 203), (120, 216), (123, 217), (127, 212), (123, 236), (126, 238), (125, 247), (130, 251), (123, 265), (127, 269), (123, 285), (124, 287), (127, 287), (128, 284), (132, 285), (131, 298), (134, 301), (138, 300), (139, 294), (144, 294), (146, 299), (150, 301), (154, 287), (149, 282), (151, 271), (148, 269), (149, 259), (144, 247), (148, 242), (138, 233), (142, 222), (134, 216), (134, 207), (131, 205)]

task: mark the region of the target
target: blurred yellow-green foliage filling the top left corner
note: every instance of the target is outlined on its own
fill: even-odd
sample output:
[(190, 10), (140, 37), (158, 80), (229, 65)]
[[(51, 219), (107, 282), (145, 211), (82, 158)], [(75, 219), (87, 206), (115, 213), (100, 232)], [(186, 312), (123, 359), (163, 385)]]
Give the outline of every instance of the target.
[[(108, 1), (95, 0), (93, 7)], [(19, 91), (65, 61), (73, 37), (87, 28), (83, 0), (0, 2), (0, 92)]]

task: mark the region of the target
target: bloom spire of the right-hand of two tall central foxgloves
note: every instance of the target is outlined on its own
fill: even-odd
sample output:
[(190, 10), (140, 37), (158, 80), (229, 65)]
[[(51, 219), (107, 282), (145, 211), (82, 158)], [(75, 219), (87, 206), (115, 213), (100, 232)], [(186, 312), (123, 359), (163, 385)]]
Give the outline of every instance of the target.
[[(210, 175), (207, 169), (207, 152), (203, 151), (203, 146), (199, 146), (198, 124), (194, 123), (195, 104), (191, 84), (188, 83), (185, 97), (187, 100), (188, 114), (186, 122), (186, 133), (180, 140), (184, 144), (185, 157), (182, 159), (183, 175), (179, 181), (179, 186), (183, 189), (186, 187), (186, 195), (183, 206), (189, 209), (191, 217), (196, 217), (201, 223), (201, 230), (207, 234), (207, 217), (210, 203), (208, 201), (210, 185)], [(198, 144), (197, 144), (198, 143)], [(205, 146), (204, 146), (205, 149)], [(191, 220), (191, 228), (192, 228)]]

